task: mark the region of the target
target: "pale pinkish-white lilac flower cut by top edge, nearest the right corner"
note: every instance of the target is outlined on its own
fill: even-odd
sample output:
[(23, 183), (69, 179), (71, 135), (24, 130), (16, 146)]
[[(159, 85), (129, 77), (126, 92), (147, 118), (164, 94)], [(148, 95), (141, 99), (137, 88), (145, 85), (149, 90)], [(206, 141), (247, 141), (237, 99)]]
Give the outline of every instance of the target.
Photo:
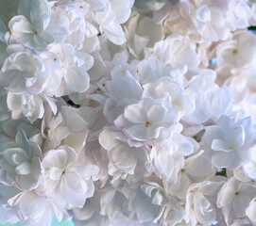
[(196, 1), (196, 29), (205, 40), (227, 40), (230, 31), (247, 27), (249, 17), (245, 1)]

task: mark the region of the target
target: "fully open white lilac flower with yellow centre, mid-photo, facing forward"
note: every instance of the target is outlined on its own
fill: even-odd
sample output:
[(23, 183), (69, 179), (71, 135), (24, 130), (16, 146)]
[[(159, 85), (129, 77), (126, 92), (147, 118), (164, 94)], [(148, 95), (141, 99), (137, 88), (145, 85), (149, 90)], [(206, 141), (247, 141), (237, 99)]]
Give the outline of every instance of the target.
[(169, 137), (177, 123), (177, 112), (167, 99), (145, 98), (138, 104), (128, 105), (114, 124), (123, 129), (127, 137), (148, 144)]

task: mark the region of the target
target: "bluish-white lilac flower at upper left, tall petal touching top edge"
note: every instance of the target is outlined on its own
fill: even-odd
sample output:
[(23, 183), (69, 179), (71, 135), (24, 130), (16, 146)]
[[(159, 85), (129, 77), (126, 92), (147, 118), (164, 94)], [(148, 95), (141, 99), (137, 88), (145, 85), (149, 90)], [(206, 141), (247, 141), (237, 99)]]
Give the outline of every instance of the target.
[(65, 27), (50, 26), (51, 8), (46, 0), (22, 0), (20, 13), (9, 21), (11, 35), (31, 48), (47, 47), (61, 42), (67, 35)]

